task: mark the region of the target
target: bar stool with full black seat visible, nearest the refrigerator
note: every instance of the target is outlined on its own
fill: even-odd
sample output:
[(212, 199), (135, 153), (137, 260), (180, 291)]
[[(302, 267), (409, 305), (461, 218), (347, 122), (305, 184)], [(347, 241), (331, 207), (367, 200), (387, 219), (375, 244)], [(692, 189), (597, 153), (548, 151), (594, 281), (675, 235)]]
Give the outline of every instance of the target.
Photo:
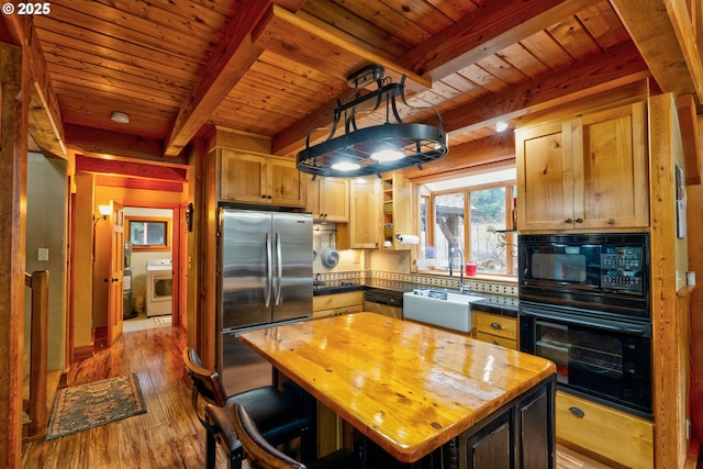
[(230, 407), (235, 403), (252, 409), (254, 421), (274, 444), (288, 443), (301, 438), (301, 454), (314, 454), (314, 426), (301, 400), (293, 399), (272, 386), (265, 386), (227, 397), (220, 376), (202, 367), (196, 350), (183, 350), (183, 364), (192, 381), (191, 402), (200, 423), (205, 428), (205, 467), (215, 468), (215, 442), (224, 449), (228, 467), (242, 467), (242, 445), (232, 428)]

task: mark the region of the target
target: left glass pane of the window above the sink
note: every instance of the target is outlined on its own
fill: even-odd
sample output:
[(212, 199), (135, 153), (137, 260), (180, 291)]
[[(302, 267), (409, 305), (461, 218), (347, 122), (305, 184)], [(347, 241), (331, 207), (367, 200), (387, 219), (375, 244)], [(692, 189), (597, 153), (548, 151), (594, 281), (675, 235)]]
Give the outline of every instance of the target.
[[(449, 193), (435, 198), (435, 256), (437, 266), (449, 266), (449, 248), (464, 246), (464, 194)], [(460, 266), (459, 256), (453, 263)]]

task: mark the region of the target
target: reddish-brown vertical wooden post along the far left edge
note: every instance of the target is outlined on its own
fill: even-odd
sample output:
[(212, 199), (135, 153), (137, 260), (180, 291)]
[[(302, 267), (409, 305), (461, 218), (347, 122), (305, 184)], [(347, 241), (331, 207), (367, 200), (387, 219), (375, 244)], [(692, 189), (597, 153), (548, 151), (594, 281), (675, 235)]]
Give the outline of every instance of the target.
[(0, 43), (0, 467), (19, 469), (24, 377), (24, 261), (29, 59)]

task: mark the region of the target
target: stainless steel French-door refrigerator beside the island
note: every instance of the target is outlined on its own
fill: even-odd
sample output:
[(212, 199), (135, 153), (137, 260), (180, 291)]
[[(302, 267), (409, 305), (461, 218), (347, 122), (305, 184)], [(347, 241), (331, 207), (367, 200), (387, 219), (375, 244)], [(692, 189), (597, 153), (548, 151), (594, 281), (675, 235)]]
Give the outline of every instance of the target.
[(219, 217), (217, 368), (234, 394), (272, 380), (239, 334), (312, 317), (313, 220), (226, 208)]

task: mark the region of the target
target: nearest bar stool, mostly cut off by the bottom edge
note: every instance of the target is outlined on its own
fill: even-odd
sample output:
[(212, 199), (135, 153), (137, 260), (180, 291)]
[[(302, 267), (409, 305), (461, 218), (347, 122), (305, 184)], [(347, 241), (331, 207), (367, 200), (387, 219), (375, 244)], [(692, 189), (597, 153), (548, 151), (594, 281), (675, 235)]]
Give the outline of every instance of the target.
[(349, 449), (338, 449), (314, 461), (302, 464), (279, 451), (263, 436), (246, 404), (235, 403), (232, 412), (232, 427), (242, 442), (244, 458), (252, 469), (361, 469), (361, 460)]

